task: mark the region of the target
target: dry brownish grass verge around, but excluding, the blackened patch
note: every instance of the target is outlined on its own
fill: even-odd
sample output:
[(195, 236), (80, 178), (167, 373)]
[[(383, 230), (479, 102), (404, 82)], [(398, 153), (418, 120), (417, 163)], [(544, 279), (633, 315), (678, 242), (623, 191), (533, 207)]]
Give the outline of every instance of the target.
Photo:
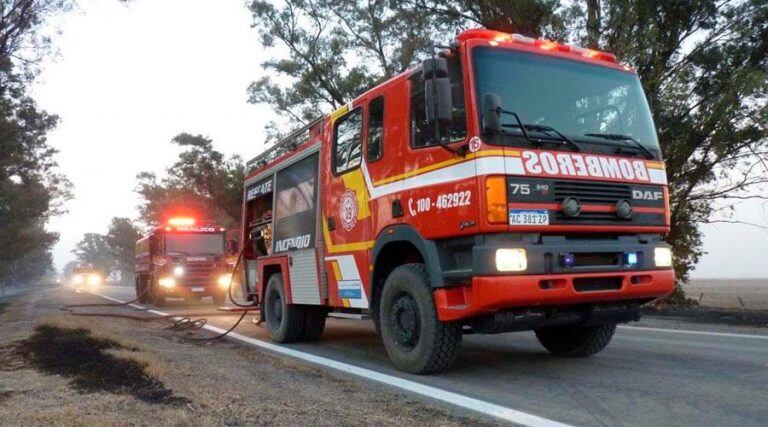
[(41, 426), (484, 424), (446, 405), (425, 404), (231, 342), (193, 344), (160, 322), (78, 318), (58, 310), (60, 304), (74, 302), (102, 301), (69, 291), (17, 301), (8, 308), (11, 322), (0, 324), (0, 342), (27, 340), (37, 327), (86, 329), (90, 337), (122, 347), (104, 349), (107, 356), (143, 366), (147, 375), (162, 378), (174, 396), (188, 398), (187, 403), (156, 404), (132, 394), (84, 391), (71, 378), (22, 366), (0, 372), (0, 392), (8, 392), (5, 397), (0, 393), (0, 425), (17, 420)]

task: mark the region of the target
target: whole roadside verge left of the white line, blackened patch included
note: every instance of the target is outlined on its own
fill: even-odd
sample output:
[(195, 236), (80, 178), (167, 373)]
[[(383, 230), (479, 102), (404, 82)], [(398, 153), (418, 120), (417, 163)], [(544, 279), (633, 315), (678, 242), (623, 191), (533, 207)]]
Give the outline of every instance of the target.
[(489, 421), (235, 343), (190, 342), (168, 323), (59, 309), (83, 302), (104, 300), (52, 289), (0, 301), (0, 425)]

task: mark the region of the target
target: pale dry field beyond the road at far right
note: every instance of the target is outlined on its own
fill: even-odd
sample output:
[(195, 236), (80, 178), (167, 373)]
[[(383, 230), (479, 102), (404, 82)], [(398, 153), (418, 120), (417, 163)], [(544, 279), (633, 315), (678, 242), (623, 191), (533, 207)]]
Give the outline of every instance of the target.
[(768, 278), (694, 279), (683, 289), (703, 307), (768, 310)]

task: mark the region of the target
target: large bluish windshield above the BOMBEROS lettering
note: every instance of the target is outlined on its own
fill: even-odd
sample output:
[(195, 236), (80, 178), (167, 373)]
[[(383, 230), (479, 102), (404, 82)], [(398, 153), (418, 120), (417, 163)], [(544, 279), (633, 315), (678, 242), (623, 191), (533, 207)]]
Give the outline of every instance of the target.
[[(526, 125), (549, 126), (571, 139), (600, 144), (626, 146), (631, 137), (659, 149), (640, 79), (632, 73), (487, 47), (476, 48), (473, 60), (479, 117), (485, 95), (495, 93), (502, 108), (517, 113)], [(525, 144), (515, 119), (502, 120), (504, 131), (513, 135), (504, 143)], [(537, 134), (542, 136), (552, 135)]]

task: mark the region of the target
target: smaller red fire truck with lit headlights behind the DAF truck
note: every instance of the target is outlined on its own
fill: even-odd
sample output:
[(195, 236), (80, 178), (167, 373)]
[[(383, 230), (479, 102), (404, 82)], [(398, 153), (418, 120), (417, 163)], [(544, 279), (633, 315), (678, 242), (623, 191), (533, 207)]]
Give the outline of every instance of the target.
[(136, 242), (136, 295), (164, 306), (166, 298), (224, 304), (231, 268), (226, 229), (194, 218), (171, 218)]

